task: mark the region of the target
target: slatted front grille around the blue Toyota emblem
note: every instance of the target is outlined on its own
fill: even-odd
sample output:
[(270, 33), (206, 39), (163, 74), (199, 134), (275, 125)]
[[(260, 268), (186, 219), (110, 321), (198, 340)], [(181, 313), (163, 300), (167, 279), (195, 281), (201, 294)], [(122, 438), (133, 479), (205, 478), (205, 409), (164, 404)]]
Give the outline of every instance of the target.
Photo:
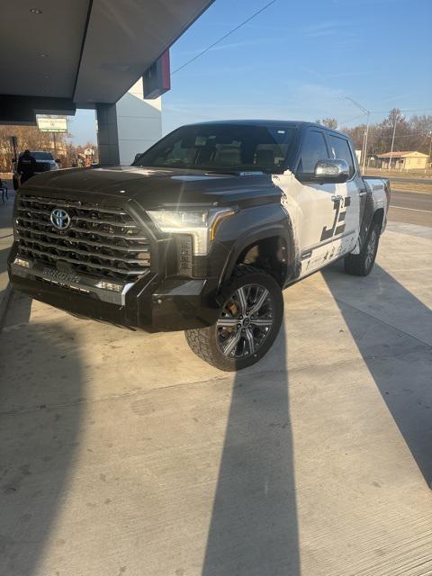
[[(57, 208), (70, 217), (67, 229), (50, 220)], [(18, 254), (54, 268), (133, 282), (150, 266), (148, 238), (121, 208), (19, 194), (15, 229)]]

